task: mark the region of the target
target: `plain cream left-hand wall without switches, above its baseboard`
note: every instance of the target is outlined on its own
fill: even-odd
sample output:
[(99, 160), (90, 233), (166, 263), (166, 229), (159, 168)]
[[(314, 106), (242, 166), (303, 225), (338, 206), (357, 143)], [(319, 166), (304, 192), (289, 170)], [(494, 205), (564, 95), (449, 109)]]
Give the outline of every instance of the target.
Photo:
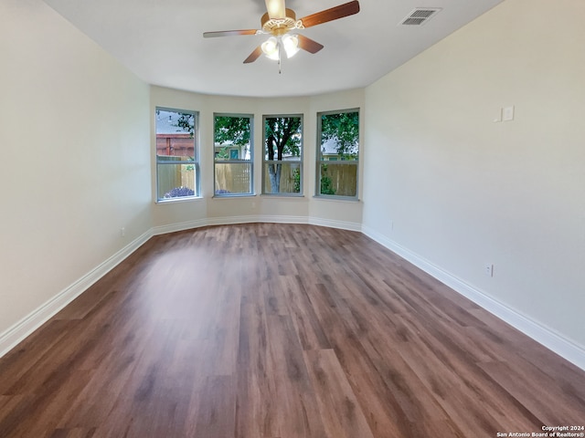
[(2, 354), (152, 223), (148, 86), (40, 0), (0, 2), (0, 59)]

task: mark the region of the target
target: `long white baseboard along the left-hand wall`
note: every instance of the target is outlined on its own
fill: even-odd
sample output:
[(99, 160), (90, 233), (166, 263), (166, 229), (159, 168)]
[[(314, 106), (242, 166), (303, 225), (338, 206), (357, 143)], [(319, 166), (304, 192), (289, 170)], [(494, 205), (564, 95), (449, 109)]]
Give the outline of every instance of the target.
[(102, 276), (105, 276), (115, 266), (119, 265), (128, 255), (131, 255), (141, 245), (144, 245), (151, 236), (150, 230), (144, 233), (144, 235), (139, 236), (99, 266), (93, 268), (85, 276), (82, 276), (76, 282), (69, 285), (69, 287), (63, 289), (55, 297), (49, 299), (45, 304), (28, 314), (25, 318), (22, 318), (14, 326), (1, 333), (0, 358), (9, 350), (14, 349), (18, 343), (47, 322), (49, 318), (57, 314), (60, 309), (79, 297)]

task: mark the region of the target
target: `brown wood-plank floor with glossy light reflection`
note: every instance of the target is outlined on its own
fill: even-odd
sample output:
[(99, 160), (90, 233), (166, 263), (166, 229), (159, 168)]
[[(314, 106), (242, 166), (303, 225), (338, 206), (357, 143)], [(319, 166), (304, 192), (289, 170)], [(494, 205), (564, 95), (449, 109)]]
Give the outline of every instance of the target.
[(583, 424), (583, 370), (366, 236), (312, 225), (155, 236), (0, 360), (2, 438)]

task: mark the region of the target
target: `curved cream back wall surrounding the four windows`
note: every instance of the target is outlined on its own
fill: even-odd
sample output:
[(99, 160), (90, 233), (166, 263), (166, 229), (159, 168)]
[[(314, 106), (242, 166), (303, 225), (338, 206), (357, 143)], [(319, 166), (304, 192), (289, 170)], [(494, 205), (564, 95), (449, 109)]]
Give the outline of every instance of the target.
[[(258, 220), (326, 224), (356, 230), (361, 228), (361, 201), (317, 199), (314, 198), (314, 187), (316, 114), (325, 110), (363, 109), (363, 89), (304, 98), (253, 99), (208, 96), (152, 87), (151, 147), (153, 151), (155, 144), (154, 109), (157, 106), (199, 111), (202, 187), (201, 199), (154, 205), (153, 218), (157, 233), (205, 224)], [(302, 114), (303, 197), (256, 195), (241, 198), (213, 198), (213, 114), (215, 112), (252, 114), (254, 116), (254, 186), (256, 193), (261, 193), (262, 116)], [(155, 197), (154, 164), (152, 171), (153, 197)]]

